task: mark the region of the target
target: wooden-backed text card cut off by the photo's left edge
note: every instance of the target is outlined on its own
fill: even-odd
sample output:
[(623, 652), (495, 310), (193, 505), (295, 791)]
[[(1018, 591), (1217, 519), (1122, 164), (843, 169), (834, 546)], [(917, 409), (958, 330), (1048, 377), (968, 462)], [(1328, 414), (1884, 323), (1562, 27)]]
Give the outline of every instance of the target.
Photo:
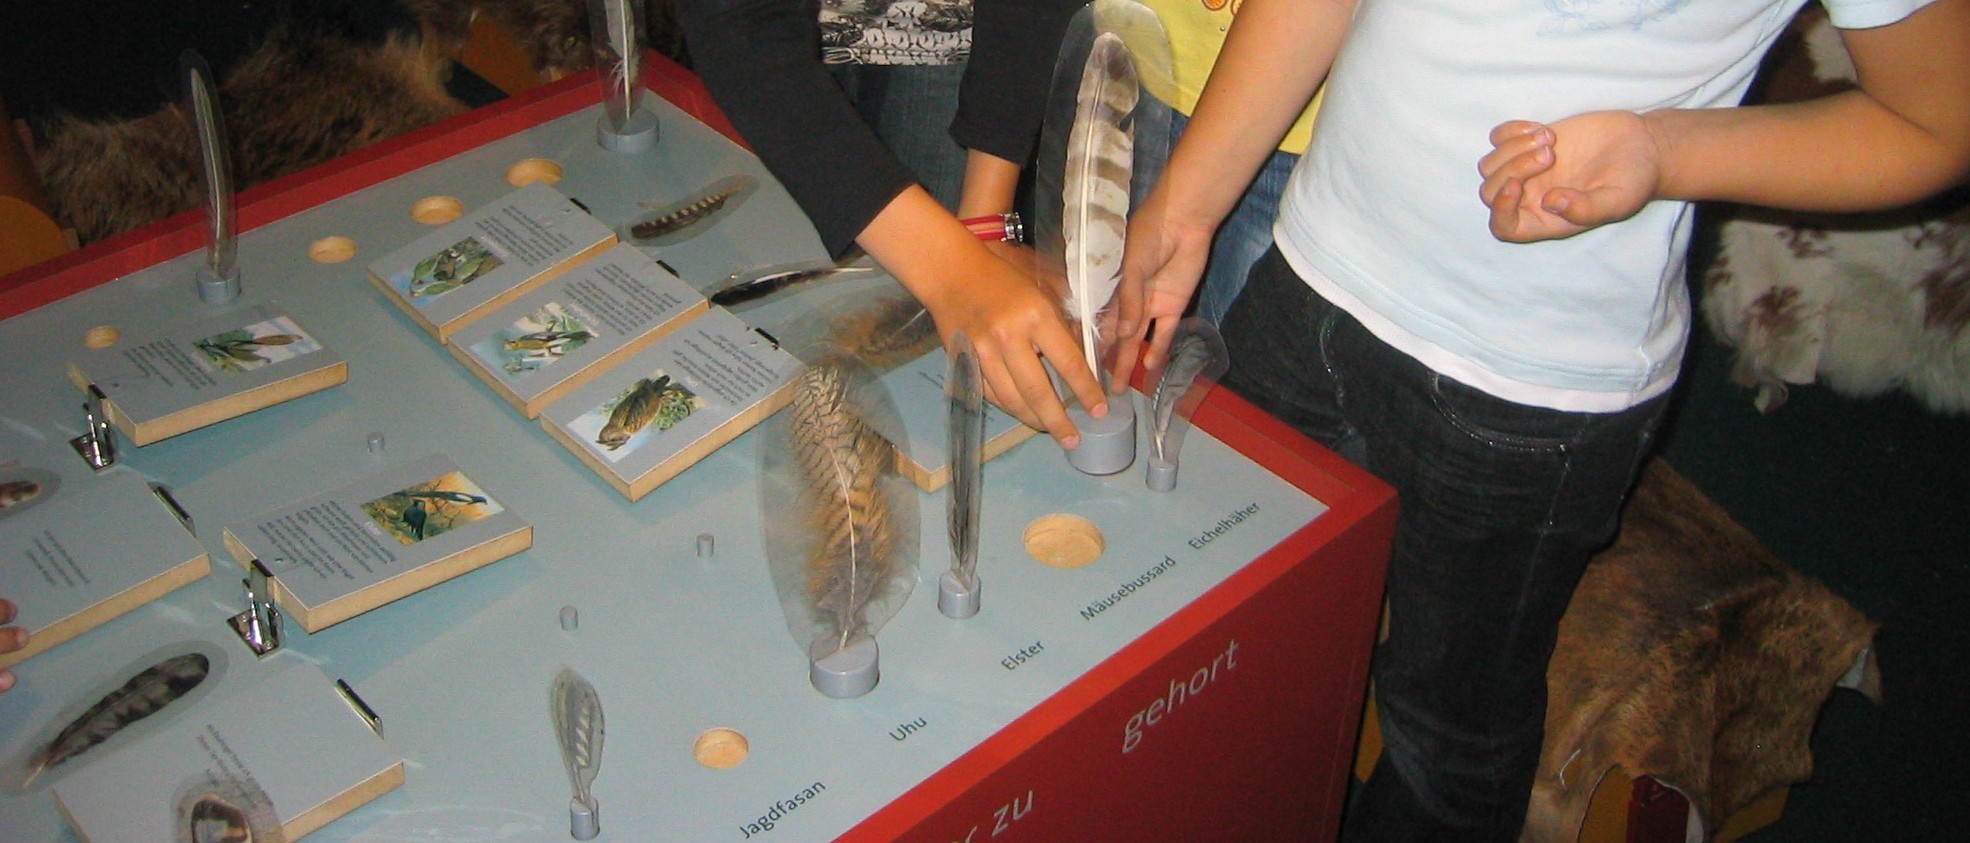
[(16, 463), (0, 467), (0, 597), (30, 634), (0, 668), (211, 573), (205, 546), (132, 471), (63, 483), (51, 467)]

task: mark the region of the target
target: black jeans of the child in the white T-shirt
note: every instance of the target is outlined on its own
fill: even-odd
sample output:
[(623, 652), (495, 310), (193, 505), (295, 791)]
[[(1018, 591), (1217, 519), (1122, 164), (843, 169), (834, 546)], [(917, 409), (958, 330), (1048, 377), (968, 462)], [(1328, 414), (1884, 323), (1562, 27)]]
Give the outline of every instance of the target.
[(1393, 485), (1387, 750), (1342, 839), (1511, 843), (1525, 823), (1546, 662), (1667, 398), (1617, 414), (1505, 402), (1381, 343), (1277, 248), (1225, 317), (1225, 384)]

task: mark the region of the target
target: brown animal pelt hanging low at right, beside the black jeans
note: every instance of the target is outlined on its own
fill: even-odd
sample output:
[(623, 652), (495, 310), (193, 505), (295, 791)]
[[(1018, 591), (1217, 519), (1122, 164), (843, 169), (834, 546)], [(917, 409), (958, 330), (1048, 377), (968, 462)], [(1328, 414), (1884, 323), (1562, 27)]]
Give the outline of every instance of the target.
[(1560, 620), (1523, 843), (1572, 843), (1609, 768), (1718, 821), (1812, 772), (1826, 695), (1877, 697), (1875, 624), (1655, 461)]

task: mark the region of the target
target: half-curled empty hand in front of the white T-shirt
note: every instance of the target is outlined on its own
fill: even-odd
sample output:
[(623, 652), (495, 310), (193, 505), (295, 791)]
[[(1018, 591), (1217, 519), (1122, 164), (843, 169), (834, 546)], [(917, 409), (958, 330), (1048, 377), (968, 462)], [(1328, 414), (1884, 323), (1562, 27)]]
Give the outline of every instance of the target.
[(1604, 110), (1491, 130), (1478, 162), (1491, 236), (1556, 240), (1633, 217), (1655, 199), (1661, 148), (1641, 114)]

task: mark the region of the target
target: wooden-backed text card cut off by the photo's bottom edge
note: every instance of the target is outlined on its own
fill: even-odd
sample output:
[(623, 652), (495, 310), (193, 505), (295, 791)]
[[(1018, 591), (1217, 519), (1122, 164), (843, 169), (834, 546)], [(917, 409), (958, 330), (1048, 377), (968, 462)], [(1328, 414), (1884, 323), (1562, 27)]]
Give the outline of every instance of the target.
[(85, 841), (299, 839), (404, 784), (404, 758), (311, 662), (209, 693), (53, 786)]

